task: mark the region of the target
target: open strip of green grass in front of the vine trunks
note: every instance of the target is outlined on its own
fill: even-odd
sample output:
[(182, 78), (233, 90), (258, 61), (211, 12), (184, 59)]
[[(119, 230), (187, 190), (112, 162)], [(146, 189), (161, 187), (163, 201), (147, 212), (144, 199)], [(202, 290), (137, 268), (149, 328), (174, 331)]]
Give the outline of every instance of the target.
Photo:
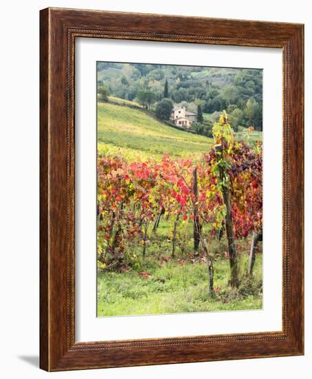
[[(247, 256), (242, 255), (243, 267)], [(143, 269), (151, 278), (138, 273)], [(254, 278), (242, 281), (239, 289), (227, 286), (229, 262), (220, 258), (214, 263), (216, 298), (207, 291), (207, 265), (179, 265), (176, 259), (160, 263), (145, 258), (138, 269), (118, 274), (98, 274), (98, 316), (173, 314), (198, 311), (229, 311), (262, 308), (262, 254), (256, 257)]]

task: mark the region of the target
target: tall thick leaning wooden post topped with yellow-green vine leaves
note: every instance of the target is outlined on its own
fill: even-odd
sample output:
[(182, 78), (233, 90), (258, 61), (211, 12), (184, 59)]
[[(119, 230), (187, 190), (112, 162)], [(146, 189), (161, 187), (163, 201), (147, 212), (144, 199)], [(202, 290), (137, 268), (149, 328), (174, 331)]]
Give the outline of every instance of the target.
[[(215, 145), (217, 161), (220, 163), (222, 159), (222, 145)], [(235, 237), (233, 231), (232, 222), (232, 210), (231, 210), (231, 193), (229, 191), (229, 185), (226, 183), (225, 167), (218, 166), (219, 180), (222, 183), (222, 197), (223, 203), (227, 208), (227, 215), (225, 216), (225, 231), (227, 234), (227, 249), (229, 253), (229, 265), (231, 269), (231, 286), (238, 287), (238, 261), (235, 246)]]

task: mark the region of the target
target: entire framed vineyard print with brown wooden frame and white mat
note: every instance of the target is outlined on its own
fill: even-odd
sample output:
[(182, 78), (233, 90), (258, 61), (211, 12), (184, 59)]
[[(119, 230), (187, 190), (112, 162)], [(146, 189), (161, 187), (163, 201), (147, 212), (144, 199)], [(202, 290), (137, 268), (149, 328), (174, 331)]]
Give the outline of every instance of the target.
[(42, 369), (304, 354), (303, 33), (41, 11)]

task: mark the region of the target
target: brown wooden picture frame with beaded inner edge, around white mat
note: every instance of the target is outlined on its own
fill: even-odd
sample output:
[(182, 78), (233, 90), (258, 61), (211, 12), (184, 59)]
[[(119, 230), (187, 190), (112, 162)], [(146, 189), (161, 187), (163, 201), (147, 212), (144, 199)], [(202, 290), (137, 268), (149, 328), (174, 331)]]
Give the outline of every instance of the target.
[[(40, 367), (60, 371), (304, 354), (303, 25), (61, 8), (41, 10), (40, 17)], [(282, 49), (282, 331), (75, 342), (76, 37)]]

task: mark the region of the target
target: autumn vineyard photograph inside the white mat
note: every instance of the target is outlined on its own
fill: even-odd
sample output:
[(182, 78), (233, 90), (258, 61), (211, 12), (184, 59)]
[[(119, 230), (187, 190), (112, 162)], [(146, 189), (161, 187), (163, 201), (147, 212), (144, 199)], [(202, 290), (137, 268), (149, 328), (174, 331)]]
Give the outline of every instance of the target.
[(97, 316), (262, 309), (262, 70), (96, 73)]

